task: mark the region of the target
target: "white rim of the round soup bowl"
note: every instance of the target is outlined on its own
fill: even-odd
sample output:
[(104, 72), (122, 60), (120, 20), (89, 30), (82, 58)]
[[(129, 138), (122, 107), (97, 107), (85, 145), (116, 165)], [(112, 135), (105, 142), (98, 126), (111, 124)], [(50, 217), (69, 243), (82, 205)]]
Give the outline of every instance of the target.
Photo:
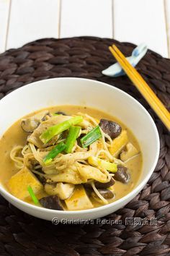
[[(86, 82), (94, 82), (94, 84), (100, 84), (104, 87), (109, 88), (110, 90), (116, 90), (119, 93), (122, 93), (122, 95), (124, 95), (125, 97), (128, 97), (130, 99), (130, 101), (133, 101), (135, 104), (137, 104), (137, 106), (145, 112), (145, 114), (148, 116), (148, 119), (151, 121), (151, 125), (153, 128), (153, 132), (155, 132), (156, 135), (156, 145), (157, 145), (157, 150), (156, 150), (156, 156), (155, 156), (155, 160), (153, 162), (153, 166), (150, 169), (150, 171), (148, 172), (148, 174), (145, 176), (145, 178), (138, 184), (137, 187), (135, 187), (135, 189), (133, 189), (130, 193), (128, 193), (127, 195), (125, 195), (124, 197), (121, 197), (120, 199), (114, 201), (114, 202), (110, 202), (107, 205), (102, 205), (99, 206), (97, 208), (90, 208), (90, 209), (86, 209), (86, 210), (53, 210), (53, 209), (48, 209), (48, 208), (41, 208), (40, 206), (37, 205), (32, 205), (28, 202), (24, 202), (22, 200), (20, 200), (19, 198), (15, 197), (14, 195), (12, 195), (10, 192), (8, 192), (3, 184), (0, 184), (0, 193), (2, 195), (5, 195), (6, 198), (10, 198), (10, 202), (12, 203), (12, 201), (17, 202), (17, 204), (25, 206), (26, 208), (31, 208), (32, 210), (38, 210), (40, 212), (44, 212), (44, 213), (54, 213), (54, 214), (64, 214), (65, 216), (71, 216), (74, 214), (84, 214), (84, 213), (97, 213), (100, 210), (104, 210), (107, 208), (112, 208), (115, 205), (119, 205), (120, 203), (125, 202), (126, 200), (128, 201), (128, 199), (130, 199), (131, 196), (138, 194), (141, 189), (143, 189), (143, 187), (145, 186), (145, 184), (148, 182), (148, 179), (150, 179), (151, 175), (153, 174), (153, 171), (156, 167), (156, 164), (158, 162), (158, 156), (159, 156), (159, 152), (160, 152), (160, 140), (159, 140), (159, 136), (158, 136), (158, 129), (156, 128), (156, 124), (154, 123), (151, 115), (148, 113), (148, 111), (146, 110), (146, 108), (144, 108), (135, 98), (133, 98), (131, 95), (129, 95), (128, 93), (125, 93), (123, 90), (116, 88), (114, 85), (109, 85), (106, 82), (100, 82), (98, 80), (90, 80), (90, 79), (86, 79), (86, 78), (81, 78), (81, 77), (55, 77), (55, 78), (50, 78), (50, 79), (46, 79), (46, 80), (39, 80), (39, 81), (35, 81), (35, 82), (31, 82), (27, 85), (24, 85), (21, 88), (18, 88), (14, 91), (12, 91), (12, 93), (9, 93), (8, 95), (4, 96), (4, 98), (2, 98), (0, 100), (0, 105), (1, 103), (3, 103), (3, 101), (6, 101), (6, 98), (11, 97), (14, 94), (17, 94), (19, 91), (25, 90), (27, 88), (30, 88), (31, 86), (40, 86), (40, 84), (42, 82), (48, 82), (49, 80), (85, 80)], [(129, 201), (128, 201), (129, 202)]]

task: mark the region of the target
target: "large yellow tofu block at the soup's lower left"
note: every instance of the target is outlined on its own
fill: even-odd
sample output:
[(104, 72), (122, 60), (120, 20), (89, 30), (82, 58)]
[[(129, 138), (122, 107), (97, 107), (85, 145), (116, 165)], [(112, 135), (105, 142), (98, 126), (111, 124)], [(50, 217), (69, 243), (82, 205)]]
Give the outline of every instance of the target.
[(27, 190), (28, 186), (32, 187), (35, 195), (42, 192), (43, 189), (42, 184), (27, 167), (22, 168), (17, 174), (14, 174), (9, 179), (7, 186), (12, 195), (21, 200), (24, 200), (30, 195)]

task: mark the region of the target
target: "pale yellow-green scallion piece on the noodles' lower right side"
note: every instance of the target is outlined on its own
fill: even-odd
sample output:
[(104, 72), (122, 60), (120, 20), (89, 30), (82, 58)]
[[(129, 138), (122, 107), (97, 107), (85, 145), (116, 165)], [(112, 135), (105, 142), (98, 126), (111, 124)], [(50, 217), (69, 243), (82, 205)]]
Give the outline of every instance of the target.
[(98, 166), (106, 169), (107, 171), (111, 171), (113, 173), (117, 172), (116, 163), (110, 163), (110, 162), (104, 161), (100, 158), (97, 158), (96, 156), (89, 156), (88, 162), (89, 164), (91, 164), (91, 166)]

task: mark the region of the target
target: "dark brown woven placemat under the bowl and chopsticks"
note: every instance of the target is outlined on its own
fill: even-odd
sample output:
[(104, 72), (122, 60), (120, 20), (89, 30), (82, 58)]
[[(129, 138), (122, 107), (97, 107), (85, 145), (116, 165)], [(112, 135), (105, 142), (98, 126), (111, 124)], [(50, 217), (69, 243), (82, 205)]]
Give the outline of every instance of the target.
[[(115, 85), (143, 104), (161, 139), (158, 164), (143, 191), (125, 208), (107, 216), (115, 224), (58, 224), (28, 216), (0, 197), (0, 255), (170, 255), (170, 137), (128, 77), (104, 77), (115, 59), (115, 43), (126, 55), (135, 45), (91, 37), (28, 43), (0, 55), (0, 98), (23, 85), (50, 77), (85, 77)], [(170, 60), (148, 51), (137, 67), (166, 108), (170, 108)], [(133, 223), (127, 219), (133, 218)], [(140, 223), (140, 218), (146, 222)], [(155, 220), (147, 223), (148, 219)], [(135, 220), (135, 221), (134, 221)]]

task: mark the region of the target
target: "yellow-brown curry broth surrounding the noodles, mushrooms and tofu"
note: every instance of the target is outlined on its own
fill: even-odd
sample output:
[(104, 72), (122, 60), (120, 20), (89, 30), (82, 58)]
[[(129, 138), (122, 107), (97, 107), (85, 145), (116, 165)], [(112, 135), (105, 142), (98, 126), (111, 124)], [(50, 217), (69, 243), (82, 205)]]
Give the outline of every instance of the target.
[[(77, 114), (77, 112), (82, 112), (89, 114), (91, 116), (94, 116), (97, 119), (109, 119), (112, 121), (117, 121), (118, 124), (121, 125), (122, 129), (127, 129), (128, 131), (128, 138), (129, 141), (133, 143), (135, 148), (140, 150), (138, 141), (134, 137), (133, 133), (130, 132), (130, 130), (125, 127), (124, 124), (122, 124), (121, 121), (115, 119), (115, 117), (110, 116), (107, 113), (104, 113), (102, 111), (99, 111), (98, 109), (95, 108), (89, 108), (89, 107), (84, 107), (84, 106), (55, 106), (55, 107), (50, 107), (50, 108), (45, 108), (48, 109), (50, 112), (56, 112), (56, 111), (63, 111), (66, 112), (66, 114)], [(40, 110), (42, 111), (42, 109)], [(27, 116), (32, 116), (33, 114), (36, 114), (39, 111), (33, 112)], [(17, 170), (14, 166), (13, 161), (9, 157), (10, 151), (14, 146), (16, 145), (25, 145), (26, 140), (27, 140), (27, 133), (24, 132), (20, 126), (21, 119), (16, 121), (14, 124), (12, 124), (9, 129), (4, 133), (3, 137), (1, 137), (0, 140), (0, 159), (1, 159), (1, 168), (0, 168), (0, 182), (1, 184), (4, 185), (6, 189), (6, 182), (9, 181), (12, 175), (17, 173)], [(142, 169), (142, 155), (141, 153), (133, 158), (132, 160), (128, 161), (126, 166), (130, 170), (130, 182), (128, 184), (123, 184), (121, 182), (116, 181), (114, 184), (114, 192), (115, 192), (115, 199), (110, 200), (109, 202), (113, 202), (115, 200), (120, 199), (121, 197), (124, 197), (127, 195), (129, 192), (131, 192), (134, 187), (138, 184), (138, 179), (141, 174), (141, 169)], [(47, 195), (45, 192), (42, 193), (41, 195), (37, 195), (38, 198), (41, 198), (43, 196)], [(99, 202), (96, 202), (95, 200), (92, 200), (92, 203), (94, 204), (94, 207), (99, 206)], [(28, 199), (26, 202), (32, 203), (30, 199)]]

